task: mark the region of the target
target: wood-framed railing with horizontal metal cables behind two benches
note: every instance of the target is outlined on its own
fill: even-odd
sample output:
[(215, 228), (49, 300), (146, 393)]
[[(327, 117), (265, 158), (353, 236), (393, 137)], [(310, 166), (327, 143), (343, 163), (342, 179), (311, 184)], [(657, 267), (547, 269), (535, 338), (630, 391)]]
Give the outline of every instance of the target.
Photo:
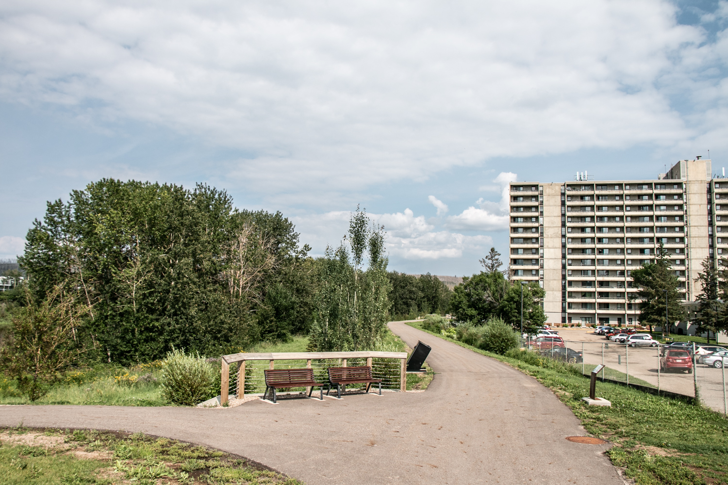
[[(397, 362), (399, 361), (399, 362)], [(263, 393), (266, 388), (265, 369), (314, 370), (316, 382), (328, 382), (329, 367), (372, 367), (375, 379), (381, 379), (384, 389), (406, 390), (406, 352), (281, 352), (281, 353), (233, 353), (221, 358), (220, 404), (226, 404), (229, 396), (238, 399), (245, 393)], [(230, 366), (235, 367), (235, 378), (230, 381)], [(291, 388), (298, 390), (298, 388)], [(301, 388), (300, 390), (304, 390)], [(307, 391), (307, 389), (306, 389)]]

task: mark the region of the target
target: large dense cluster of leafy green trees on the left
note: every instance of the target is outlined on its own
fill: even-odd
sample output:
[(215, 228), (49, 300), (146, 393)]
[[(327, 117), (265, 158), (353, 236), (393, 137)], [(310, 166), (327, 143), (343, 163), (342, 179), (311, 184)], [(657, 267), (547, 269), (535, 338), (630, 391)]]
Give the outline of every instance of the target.
[(87, 337), (108, 360), (147, 361), (173, 347), (228, 353), (310, 322), (310, 306), (277, 306), (280, 294), (311, 294), (297, 281), (305, 275), (290, 274), (308, 251), (293, 225), (233, 209), (207, 185), (103, 179), (49, 202), (26, 240), (19, 262), (35, 297), (76, 289), (91, 308)]

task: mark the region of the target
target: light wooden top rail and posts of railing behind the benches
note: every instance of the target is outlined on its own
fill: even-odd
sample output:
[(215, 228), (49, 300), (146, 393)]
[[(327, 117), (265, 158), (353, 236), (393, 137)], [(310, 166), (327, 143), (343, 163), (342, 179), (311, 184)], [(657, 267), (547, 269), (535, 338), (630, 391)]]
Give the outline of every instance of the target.
[(246, 361), (269, 361), (269, 369), (274, 368), (275, 361), (306, 361), (306, 367), (311, 367), (314, 360), (341, 359), (341, 366), (347, 366), (350, 358), (365, 358), (366, 364), (371, 366), (372, 358), (397, 358), (400, 359), (400, 391), (407, 390), (407, 353), (406, 352), (375, 352), (364, 350), (361, 352), (274, 352), (274, 353), (232, 353), (223, 356), (220, 385), (220, 404), (228, 402), (230, 388), (230, 364), (240, 362), (240, 369), (237, 372), (237, 398), (245, 396), (245, 362)]

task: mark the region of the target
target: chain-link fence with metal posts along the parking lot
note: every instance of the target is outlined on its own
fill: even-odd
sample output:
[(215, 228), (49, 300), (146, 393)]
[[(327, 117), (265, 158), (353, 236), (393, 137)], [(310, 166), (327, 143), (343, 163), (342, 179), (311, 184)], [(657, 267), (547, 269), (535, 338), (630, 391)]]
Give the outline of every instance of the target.
[(697, 397), (717, 412), (728, 412), (726, 371), (728, 356), (700, 355), (700, 348), (670, 345), (632, 347), (620, 342), (580, 342), (566, 340), (566, 348), (537, 348), (533, 340), (525, 346), (544, 356), (581, 366), (589, 375), (598, 364), (604, 369), (598, 378), (644, 388), (653, 393), (674, 393)]

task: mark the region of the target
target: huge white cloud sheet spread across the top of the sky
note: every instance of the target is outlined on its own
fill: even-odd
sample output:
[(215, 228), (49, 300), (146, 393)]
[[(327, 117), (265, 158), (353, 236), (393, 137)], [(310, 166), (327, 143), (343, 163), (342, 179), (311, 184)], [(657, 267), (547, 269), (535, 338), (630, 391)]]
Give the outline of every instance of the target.
[(675, 12), (667, 0), (8, 0), (0, 100), (238, 148), (228, 180), (277, 201), (325, 191), (331, 207), (352, 188), (495, 156), (690, 143), (710, 125), (670, 97), (726, 99), (705, 75), (725, 40), (704, 44)]

